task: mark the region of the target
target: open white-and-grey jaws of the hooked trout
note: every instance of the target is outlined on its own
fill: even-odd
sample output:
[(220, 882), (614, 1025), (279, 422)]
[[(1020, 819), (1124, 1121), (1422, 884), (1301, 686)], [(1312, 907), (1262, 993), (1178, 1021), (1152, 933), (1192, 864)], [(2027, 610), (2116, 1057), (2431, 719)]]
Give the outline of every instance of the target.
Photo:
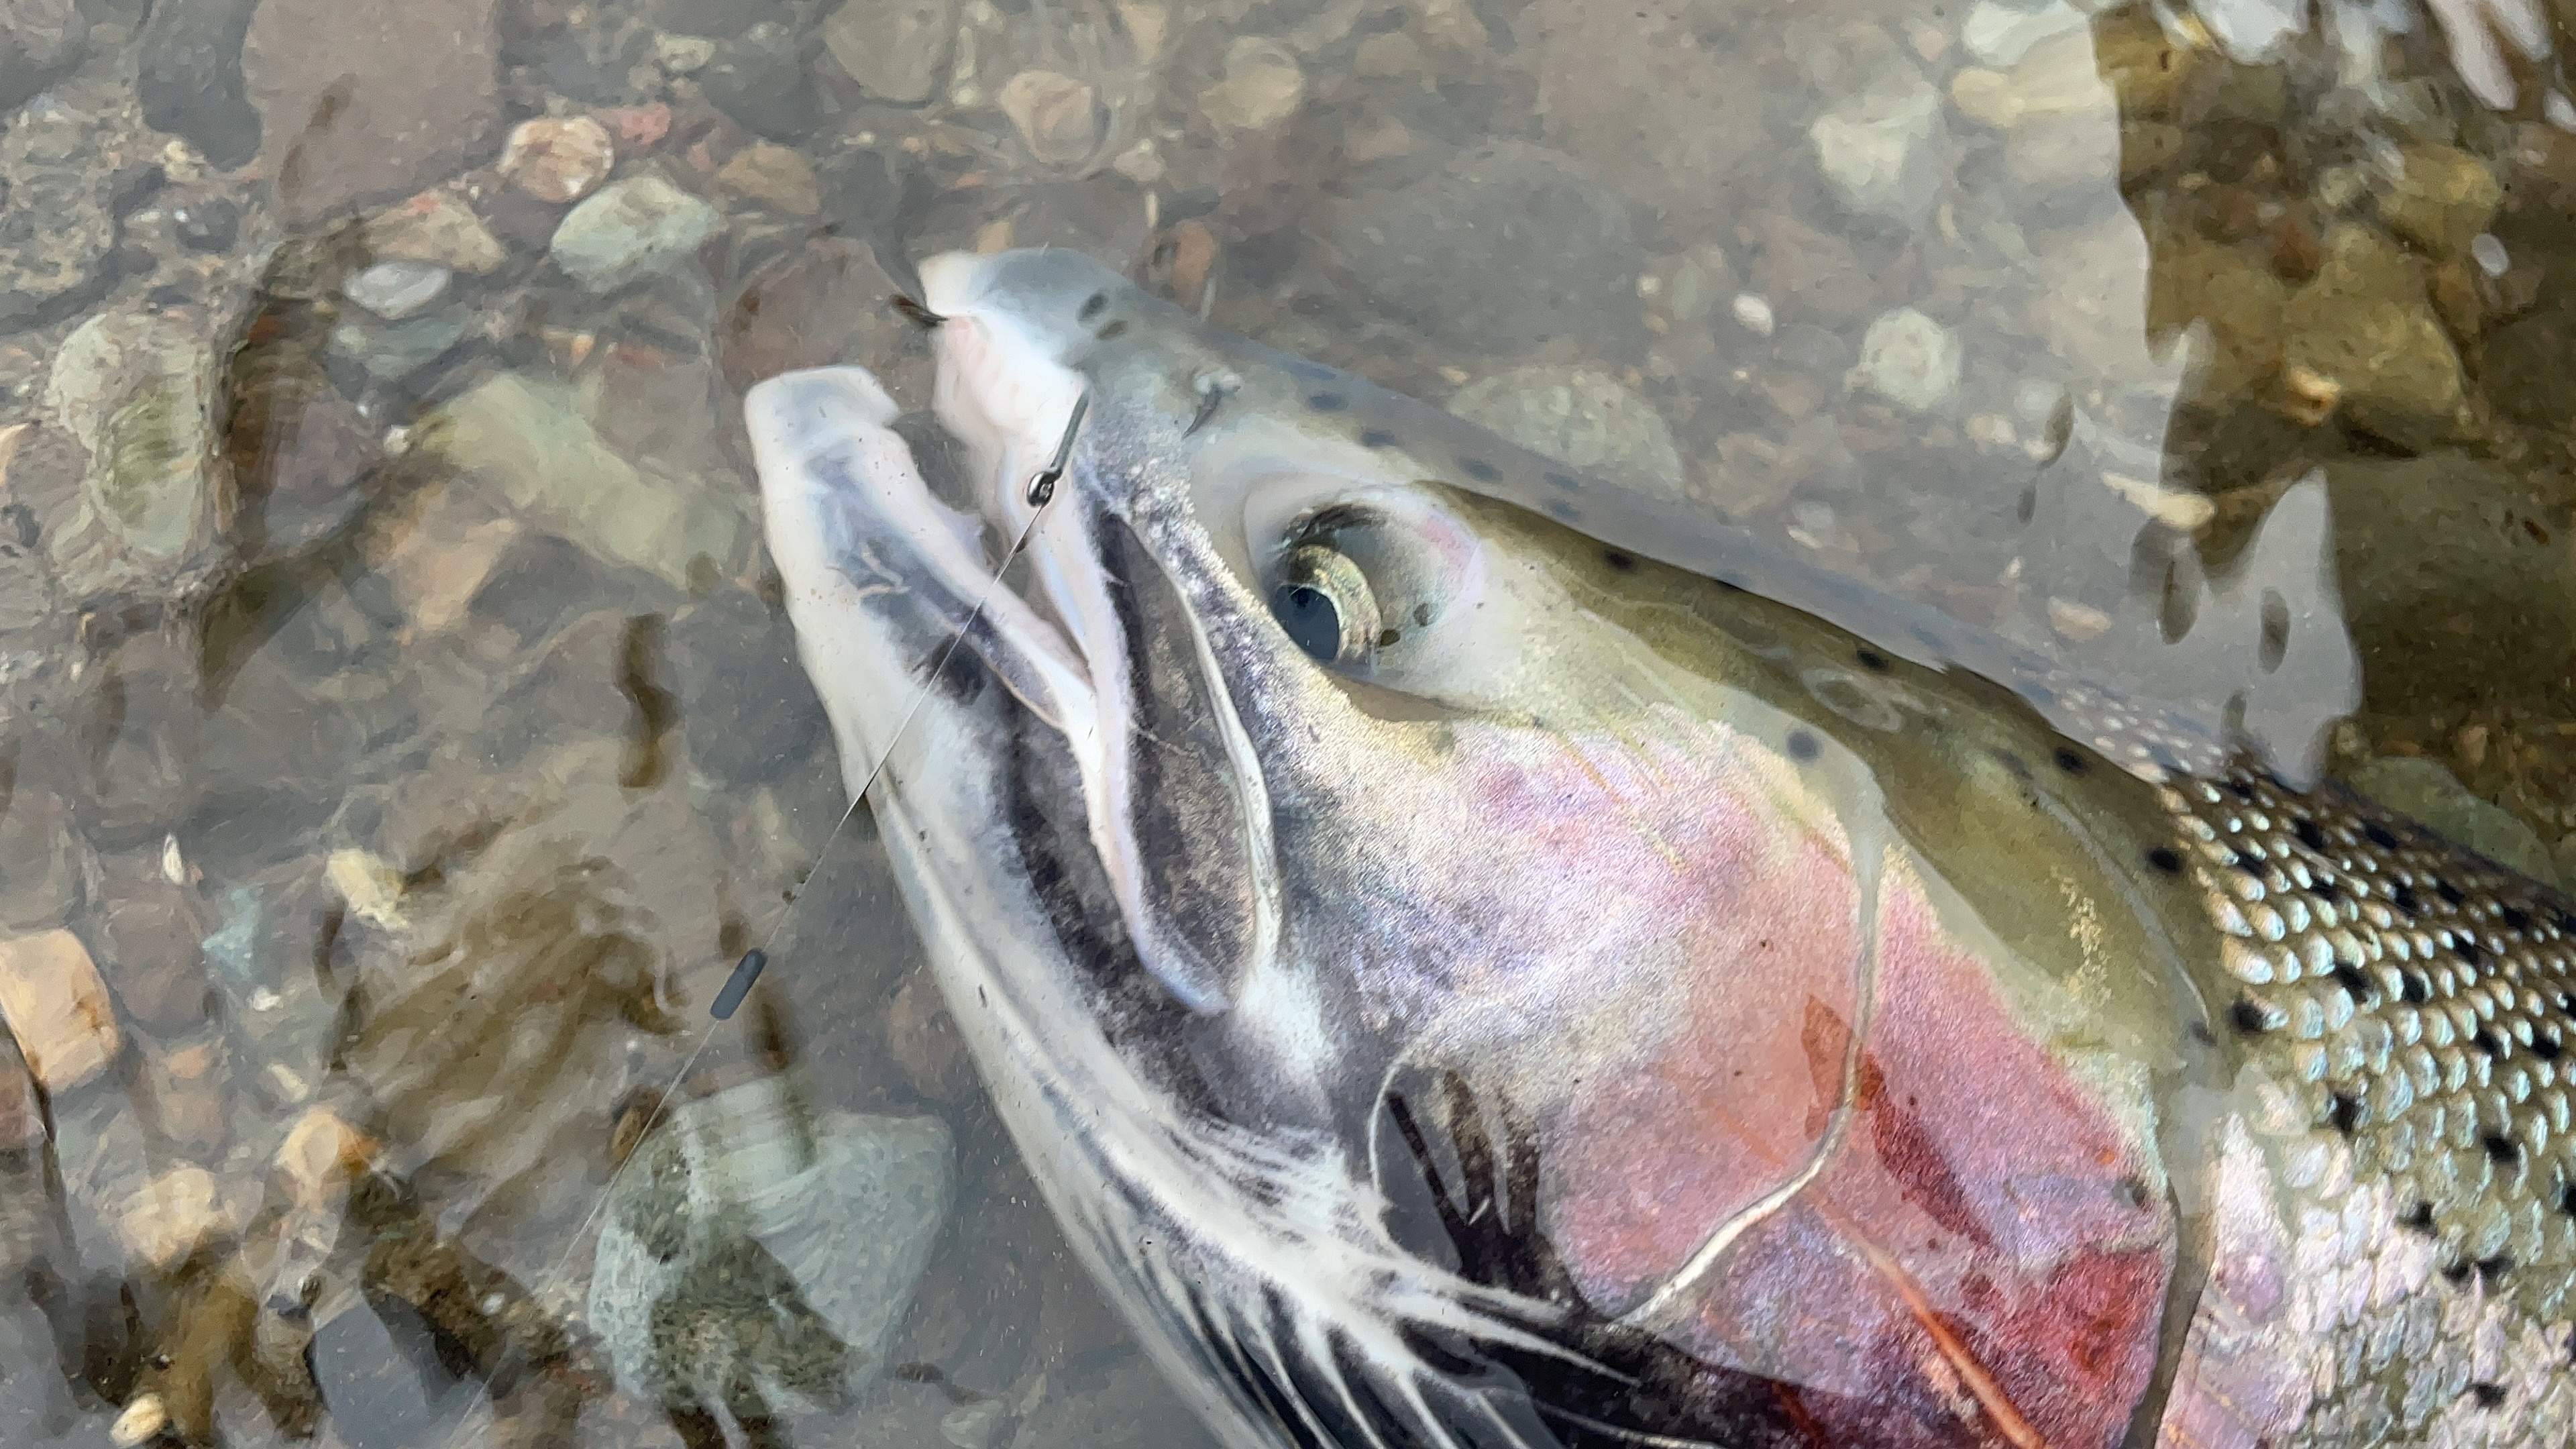
[[(868, 681), (835, 709), (848, 784), (896, 745), (902, 696), (971, 660), (1072, 755), (1082, 820), (1059, 835), (1087, 838), (1136, 964), (1182, 1008), (1224, 1011), (1278, 944), (1270, 804), (1195, 611), (1090, 446), (1084, 297), (1133, 294), (1074, 253), (951, 253), (920, 278), (966, 508), (930, 490), (858, 369), (744, 400), (806, 668)], [(987, 768), (1002, 758), (989, 735)]]

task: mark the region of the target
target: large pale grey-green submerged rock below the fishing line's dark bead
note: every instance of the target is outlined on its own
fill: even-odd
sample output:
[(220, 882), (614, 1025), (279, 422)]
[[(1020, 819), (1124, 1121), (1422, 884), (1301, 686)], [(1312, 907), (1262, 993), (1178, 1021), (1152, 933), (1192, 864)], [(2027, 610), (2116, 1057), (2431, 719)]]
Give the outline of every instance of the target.
[(608, 1194), (590, 1323), (672, 1408), (840, 1405), (886, 1369), (953, 1199), (935, 1116), (817, 1114), (786, 1078), (680, 1104)]

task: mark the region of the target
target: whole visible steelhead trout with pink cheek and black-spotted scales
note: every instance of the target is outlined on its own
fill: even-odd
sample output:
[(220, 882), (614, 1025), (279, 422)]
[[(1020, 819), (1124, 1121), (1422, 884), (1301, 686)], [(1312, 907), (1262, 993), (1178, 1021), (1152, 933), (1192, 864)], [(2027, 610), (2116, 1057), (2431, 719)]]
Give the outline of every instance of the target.
[(770, 549), (1224, 1444), (2568, 1444), (2568, 900), (1079, 255), (922, 289), (971, 498), (778, 376)]

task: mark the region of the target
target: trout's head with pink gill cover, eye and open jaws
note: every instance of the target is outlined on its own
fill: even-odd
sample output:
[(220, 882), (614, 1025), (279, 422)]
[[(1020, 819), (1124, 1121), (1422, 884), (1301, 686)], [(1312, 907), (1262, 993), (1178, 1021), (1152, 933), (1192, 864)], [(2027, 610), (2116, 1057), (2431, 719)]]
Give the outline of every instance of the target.
[[(2174, 1044), (2123, 1031), (2187, 1013), (2102, 977), (2174, 954), (2151, 913), (1996, 895), (2017, 848), (2048, 902), (2130, 890), (2007, 779), (2045, 724), (1968, 740), (1924, 673), (1605, 541), (1558, 464), (1074, 253), (920, 276), (966, 503), (873, 379), (788, 374), (747, 400), (770, 547), (987, 1085), (1229, 1444), (1700, 1444), (1780, 1428), (1777, 1382), (1868, 1441), (1891, 1372), (1973, 1382), (1906, 1359), (1942, 1312), (2004, 1310), (2081, 1351), (2017, 1372), (2125, 1413)], [(1953, 748), (1986, 797), (1891, 799)], [(1917, 835), (1978, 810), (2002, 871), (1950, 879)], [(1700, 1408), (1620, 1421), (1659, 1374)]]

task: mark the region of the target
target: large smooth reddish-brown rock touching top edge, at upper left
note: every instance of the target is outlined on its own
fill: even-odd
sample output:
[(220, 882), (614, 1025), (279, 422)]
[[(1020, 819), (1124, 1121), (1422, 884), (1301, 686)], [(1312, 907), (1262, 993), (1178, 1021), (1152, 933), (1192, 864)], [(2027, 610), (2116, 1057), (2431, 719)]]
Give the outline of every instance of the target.
[(242, 77), (278, 211), (309, 222), (402, 196), (500, 119), (495, 0), (260, 0)]

